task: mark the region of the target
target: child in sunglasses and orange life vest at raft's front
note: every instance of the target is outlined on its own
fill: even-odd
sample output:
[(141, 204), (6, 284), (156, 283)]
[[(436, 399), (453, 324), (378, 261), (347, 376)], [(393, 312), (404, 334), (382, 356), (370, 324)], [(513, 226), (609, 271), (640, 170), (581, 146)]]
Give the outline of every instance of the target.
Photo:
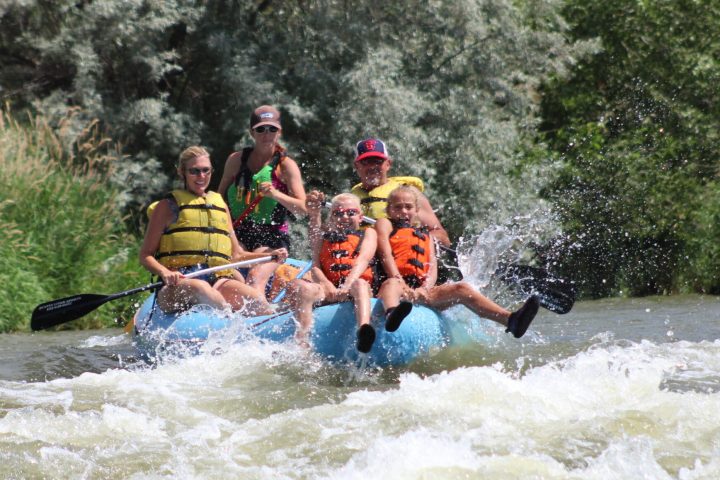
[(293, 280), (287, 290), (298, 324), (296, 339), (301, 345), (307, 345), (314, 304), (352, 299), (358, 323), (357, 349), (367, 353), (375, 341), (375, 329), (370, 325), (372, 270), (369, 265), (375, 256), (376, 234), (371, 228), (360, 230), (362, 213), (360, 200), (355, 195), (342, 193), (334, 197), (330, 217), (322, 225), (324, 202), (324, 194), (318, 191), (310, 192), (306, 200), (313, 281)]

